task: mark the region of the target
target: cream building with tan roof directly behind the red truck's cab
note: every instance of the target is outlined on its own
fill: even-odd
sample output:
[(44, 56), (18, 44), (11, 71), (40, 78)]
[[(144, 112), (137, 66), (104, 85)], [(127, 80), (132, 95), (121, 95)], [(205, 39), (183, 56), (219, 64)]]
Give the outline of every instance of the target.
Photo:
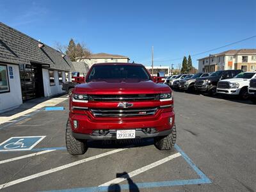
[(77, 59), (77, 61), (83, 61), (84, 63), (87, 63), (89, 67), (92, 67), (94, 63), (128, 63), (129, 60), (129, 57), (127, 56), (108, 54), (104, 52), (91, 54), (89, 58), (82, 57)]

